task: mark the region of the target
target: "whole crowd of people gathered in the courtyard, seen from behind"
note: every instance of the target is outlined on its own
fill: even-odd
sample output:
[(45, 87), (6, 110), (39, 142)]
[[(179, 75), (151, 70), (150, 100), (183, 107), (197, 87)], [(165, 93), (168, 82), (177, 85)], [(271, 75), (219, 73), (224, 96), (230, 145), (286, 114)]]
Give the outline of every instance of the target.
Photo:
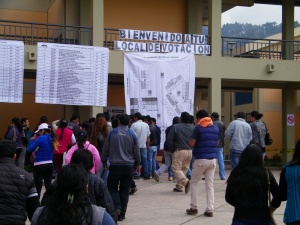
[[(182, 112), (166, 129), (163, 164), (158, 165), (161, 129), (156, 119), (108, 112), (80, 123), (74, 113), (33, 132), (29, 119), (12, 118), (0, 141), (0, 223), (117, 224), (125, 219), (135, 179), (160, 182), (168, 170), (174, 192), (191, 192), (189, 215), (198, 214), (198, 185), (205, 180), (204, 216), (214, 216), (214, 176), (226, 179), (224, 139), (230, 139), (231, 172), (225, 200), (234, 207), (233, 225), (275, 225), (272, 213), (287, 201), (286, 224), (300, 224), (300, 140), (279, 184), (264, 166), (267, 127), (257, 111), (238, 112), (226, 128), (217, 112)], [(24, 168), (32, 165), (33, 176)], [(53, 181), (53, 177), (56, 179)], [(172, 178), (172, 179), (170, 179)], [(45, 193), (42, 195), (42, 186)], [(272, 196), (272, 197), (271, 197)], [(41, 200), (41, 202), (40, 202)]]

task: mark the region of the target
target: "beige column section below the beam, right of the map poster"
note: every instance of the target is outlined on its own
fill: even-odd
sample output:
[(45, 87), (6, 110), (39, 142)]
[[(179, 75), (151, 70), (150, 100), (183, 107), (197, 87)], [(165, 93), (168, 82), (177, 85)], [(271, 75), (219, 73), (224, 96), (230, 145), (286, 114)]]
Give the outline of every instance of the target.
[(221, 78), (212, 78), (208, 83), (208, 111), (218, 112), (221, 118)]

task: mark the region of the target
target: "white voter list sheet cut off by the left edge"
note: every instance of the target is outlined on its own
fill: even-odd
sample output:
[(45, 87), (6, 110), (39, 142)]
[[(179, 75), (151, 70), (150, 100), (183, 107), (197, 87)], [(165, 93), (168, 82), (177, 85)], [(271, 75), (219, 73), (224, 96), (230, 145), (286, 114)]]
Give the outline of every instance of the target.
[(0, 102), (22, 103), (24, 43), (0, 40)]

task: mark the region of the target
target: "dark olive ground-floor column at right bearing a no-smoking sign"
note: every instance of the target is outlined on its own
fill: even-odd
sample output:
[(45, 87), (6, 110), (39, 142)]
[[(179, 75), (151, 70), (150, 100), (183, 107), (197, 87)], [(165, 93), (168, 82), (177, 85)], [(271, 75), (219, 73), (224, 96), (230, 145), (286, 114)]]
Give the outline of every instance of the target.
[(287, 88), (282, 90), (282, 160), (286, 163), (291, 160), (295, 148), (295, 126), (287, 125), (287, 115), (295, 114), (295, 90)]

